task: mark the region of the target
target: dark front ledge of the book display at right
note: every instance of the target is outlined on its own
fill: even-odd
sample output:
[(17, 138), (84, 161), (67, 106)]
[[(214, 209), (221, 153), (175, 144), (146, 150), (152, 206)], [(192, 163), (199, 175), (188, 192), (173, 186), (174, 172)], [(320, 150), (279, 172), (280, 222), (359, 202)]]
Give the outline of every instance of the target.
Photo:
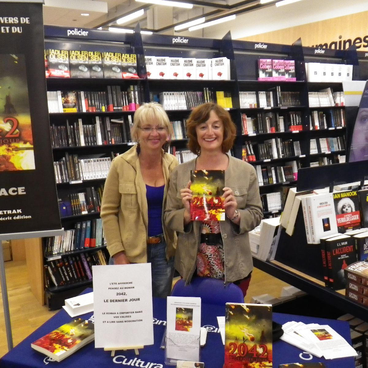
[(329, 289), (325, 287), (324, 282), (294, 270), (277, 261), (261, 261), (260, 259), (253, 257), (253, 264), (263, 272), (293, 285), (330, 305), (334, 305), (335, 307), (361, 318), (364, 321), (367, 319), (368, 308), (346, 299), (345, 290), (336, 291)]

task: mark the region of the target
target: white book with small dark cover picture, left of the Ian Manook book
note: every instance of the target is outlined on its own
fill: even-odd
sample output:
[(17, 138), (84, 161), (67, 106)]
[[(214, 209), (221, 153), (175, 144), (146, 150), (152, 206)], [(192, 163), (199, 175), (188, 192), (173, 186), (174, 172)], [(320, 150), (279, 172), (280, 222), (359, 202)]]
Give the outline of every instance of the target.
[(307, 197), (307, 208), (312, 244), (319, 244), (321, 237), (338, 232), (332, 193)]

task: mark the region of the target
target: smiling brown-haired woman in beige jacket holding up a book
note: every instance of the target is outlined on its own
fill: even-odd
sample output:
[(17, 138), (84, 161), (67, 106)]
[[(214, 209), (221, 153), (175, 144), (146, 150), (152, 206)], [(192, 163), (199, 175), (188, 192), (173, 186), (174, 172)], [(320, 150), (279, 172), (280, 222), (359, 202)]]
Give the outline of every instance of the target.
[[(262, 219), (255, 169), (227, 155), (236, 127), (219, 105), (196, 107), (187, 120), (187, 134), (188, 148), (198, 157), (171, 173), (164, 213), (166, 226), (178, 234), (175, 268), (186, 283), (197, 270), (198, 276), (234, 282), (245, 296), (253, 268), (248, 231)], [(191, 221), (191, 170), (225, 170), (225, 221)]]

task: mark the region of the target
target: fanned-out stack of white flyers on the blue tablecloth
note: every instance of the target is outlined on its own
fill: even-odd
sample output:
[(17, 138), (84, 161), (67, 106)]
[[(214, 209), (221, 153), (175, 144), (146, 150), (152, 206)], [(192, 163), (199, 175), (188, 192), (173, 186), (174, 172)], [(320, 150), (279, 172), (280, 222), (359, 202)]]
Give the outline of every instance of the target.
[(328, 325), (318, 323), (286, 322), (282, 326), (281, 340), (301, 348), (310, 354), (325, 359), (354, 357), (357, 352), (352, 346)]

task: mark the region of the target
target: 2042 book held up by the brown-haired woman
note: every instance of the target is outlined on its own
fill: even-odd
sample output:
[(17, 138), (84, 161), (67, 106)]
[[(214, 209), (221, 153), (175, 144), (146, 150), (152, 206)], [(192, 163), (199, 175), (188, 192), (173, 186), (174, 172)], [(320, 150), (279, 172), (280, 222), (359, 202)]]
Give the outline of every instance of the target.
[(192, 170), (190, 174), (192, 200), (191, 220), (225, 220), (224, 170)]

